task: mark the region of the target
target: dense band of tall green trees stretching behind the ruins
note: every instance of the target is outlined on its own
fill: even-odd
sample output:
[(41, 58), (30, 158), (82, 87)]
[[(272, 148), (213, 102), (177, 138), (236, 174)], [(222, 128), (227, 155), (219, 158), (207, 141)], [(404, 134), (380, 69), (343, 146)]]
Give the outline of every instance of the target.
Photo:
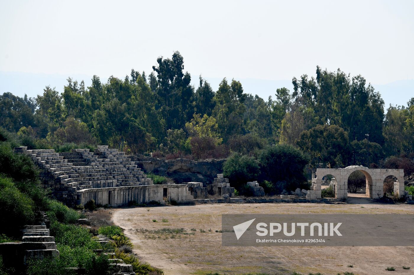
[(106, 83), (94, 76), (90, 87), (69, 78), (63, 93), (49, 86), (37, 98), (4, 93), (0, 127), (31, 148), (107, 144), (202, 159), (288, 144), (307, 153), (310, 165), (325, 167), (414, 158), (414, 98), (384, 112), (380, 94), (360, 75), (317, 67), (314, 77), (294, 77), (293, 91), (278, 88), (263, 100), (235, 79), (213, 91), (200, 77), (195, 89), (178, 52), (156, 63), (148, 76), (134, 69)]

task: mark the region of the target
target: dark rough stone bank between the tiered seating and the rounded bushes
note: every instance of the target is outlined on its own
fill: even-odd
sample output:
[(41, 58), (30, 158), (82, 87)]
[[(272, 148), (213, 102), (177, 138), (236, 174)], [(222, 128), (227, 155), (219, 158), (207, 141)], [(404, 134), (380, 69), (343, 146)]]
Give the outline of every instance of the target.
[(194, 161), (179, 158), (176, 160), (161, 160), (159, 158), (129, 156), (144, 172), (173, 178), (177, 183), (204, 182), (212, 184), (217, 174), (223, 172), (226, 159), (207, 159)]

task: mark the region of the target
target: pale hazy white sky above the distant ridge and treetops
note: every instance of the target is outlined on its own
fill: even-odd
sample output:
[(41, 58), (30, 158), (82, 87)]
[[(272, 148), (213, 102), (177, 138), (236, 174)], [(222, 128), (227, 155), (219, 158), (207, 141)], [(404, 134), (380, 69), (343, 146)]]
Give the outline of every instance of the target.
[(387, 84), (414, 79), (413, 14), (412, 0), (1, 0), (0, 71), (124, 77), (179, 50), (193, 79), (291, 80), (319, 65)]

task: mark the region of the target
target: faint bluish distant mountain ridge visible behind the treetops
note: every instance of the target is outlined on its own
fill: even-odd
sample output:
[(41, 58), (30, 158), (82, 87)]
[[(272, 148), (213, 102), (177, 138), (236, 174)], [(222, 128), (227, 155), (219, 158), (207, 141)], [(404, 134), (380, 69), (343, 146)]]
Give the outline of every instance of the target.
[[(56, 87), (56, 90), (63, 92), (63, 86), (67, 84), (66, 79), (71, 77), (77, 81), (85, 81), (85, 86), (91, 84), (92, 76), (86, 74), (74, 74), (65, 76), (61, 74), (37, 74), (24, 72), (0, 72), (0, 94), (5, 92), (13, 93), (16, 96), (24, 96), (26, 93), (29, 97), (36, 97), (43, 93), (45, 86)], [(109, 77), (109, 76), (108, 76)], [(102, 82), (106, 82), (108, 77), (101, 77)], [(121, 79), (124, 76), (118, 76)], [(214, 91), (217, 91), (222, 78), (204, 77), (212, 86)], [(269, 96), (274, 99), (274, 94), (277, 88), (286, 87), (290, 91), (293, 90), (291, 80), (267, 80), (267, 79), (237, 79), (240, 81), (245, 93), (258, 95), (264, 100)], [(231, 80), (231, 78), (228, 78)], [(192, 77), (192, 84), (197, 88), (199, 82), (198, 77)], [(414, 79), (398, 80), (388, 84), (372, 84), (375, 91), (379, 91), (385, 101), (385, 110), (392, 105), (407, 106), (407, 102), (414, 97)]]

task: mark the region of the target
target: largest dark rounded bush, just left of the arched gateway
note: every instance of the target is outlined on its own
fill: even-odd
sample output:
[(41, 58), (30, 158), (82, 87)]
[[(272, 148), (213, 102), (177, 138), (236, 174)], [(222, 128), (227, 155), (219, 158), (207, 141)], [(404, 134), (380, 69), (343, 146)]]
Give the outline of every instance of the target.
[[(260, 182), (272, 182), (277, 192), (295, 190), (307, 182), (308, 156), (289, 145), (268, 146), (260, 152)], [(285, 185), (285, 186), (284, 186)]]

